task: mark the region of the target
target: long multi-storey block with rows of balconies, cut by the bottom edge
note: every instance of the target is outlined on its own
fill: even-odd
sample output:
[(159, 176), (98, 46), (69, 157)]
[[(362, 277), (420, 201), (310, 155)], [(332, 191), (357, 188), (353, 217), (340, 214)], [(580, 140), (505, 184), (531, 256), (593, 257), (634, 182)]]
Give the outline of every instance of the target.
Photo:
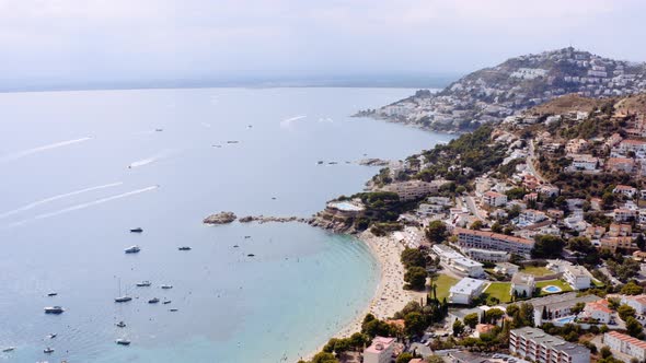
[(590, 362), (590, 350), (584, 346), (567, 342), (530, 327), (510, 331), (509, 351), (537, 363)]

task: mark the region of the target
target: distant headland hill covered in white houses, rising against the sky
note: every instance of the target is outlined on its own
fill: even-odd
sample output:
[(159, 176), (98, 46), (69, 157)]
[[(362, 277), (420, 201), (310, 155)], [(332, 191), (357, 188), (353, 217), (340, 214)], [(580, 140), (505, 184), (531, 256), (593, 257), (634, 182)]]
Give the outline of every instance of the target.
[(357, 115), (434, 130), (468, 131), (566, 94), (601, 98), (643, 91), (646, 63), (613, 60), (570, 47), (511, 58), (470, 73), (436, 94), (418, 91)]

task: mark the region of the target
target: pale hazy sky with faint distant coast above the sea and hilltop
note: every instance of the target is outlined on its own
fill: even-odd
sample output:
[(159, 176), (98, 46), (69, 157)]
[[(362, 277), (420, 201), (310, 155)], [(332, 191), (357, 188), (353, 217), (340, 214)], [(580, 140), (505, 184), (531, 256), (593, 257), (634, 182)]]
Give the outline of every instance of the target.
[(643, 0), (0, 0), (0, 85), (459, 74), (576, 48), (646, 60)]

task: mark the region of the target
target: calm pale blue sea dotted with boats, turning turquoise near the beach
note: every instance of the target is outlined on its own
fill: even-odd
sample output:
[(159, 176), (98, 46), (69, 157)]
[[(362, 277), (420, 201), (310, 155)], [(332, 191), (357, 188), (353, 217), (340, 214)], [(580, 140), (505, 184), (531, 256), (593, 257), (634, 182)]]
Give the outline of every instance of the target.
[[(0, 94), (0, 348), (15, 347), (0, 362), (257, 363), (311, 353), (367, 307), (379, 283), (369, 248), (300, 223), (201, 221), (220, 211), (310, 216), (378, 173), (357, 161), (449, 141), (350, 117), (413, 92)], [(134, 245), (140, 251), (125, 254)], [(123, 295), (132, 300), (114, 302)]]

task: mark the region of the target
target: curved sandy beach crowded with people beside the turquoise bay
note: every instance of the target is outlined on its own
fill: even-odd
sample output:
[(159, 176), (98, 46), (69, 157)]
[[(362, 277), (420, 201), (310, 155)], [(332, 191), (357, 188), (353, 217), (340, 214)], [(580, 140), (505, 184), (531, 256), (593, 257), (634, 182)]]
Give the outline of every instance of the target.
[(311, 360), (314, 354), (319, 353), (332, 338), (347, 338), (355, 332), (361, 331), (361, 323), (367, 314), (372, 314), (378, 319), (392, 317), (400, 312), (407, 303), (419, 301), (425, 296), (425, 292), (404, 290), (404, 266), (400, 257), (404, 246), (395, 241), (392, 234), (379, 237), (365, 231), (355, 236), (361, 243), (366, 244), (372, 256), (379, 265), (379, 282), (374, 294), (368, 302), (368, 305), (351, 318), (344, 327), (328, 337), (314, 352), (304, 355), (302, 359)]

